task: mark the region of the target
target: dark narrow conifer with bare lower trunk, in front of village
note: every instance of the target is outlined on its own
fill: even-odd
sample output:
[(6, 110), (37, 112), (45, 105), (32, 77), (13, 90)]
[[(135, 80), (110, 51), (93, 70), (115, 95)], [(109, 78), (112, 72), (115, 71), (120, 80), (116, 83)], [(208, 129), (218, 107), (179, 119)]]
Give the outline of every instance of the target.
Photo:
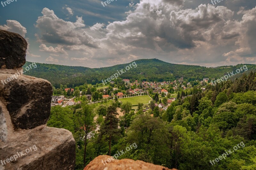
[(103, 135), (108, 138), (109, 156), (111, 156), (111, 140), (117, 136), (121, 136), (116, 115), (118, 115), (116, 107), (113, 105), (109, 106), (104, 124), (100, 127), (100, 138)]

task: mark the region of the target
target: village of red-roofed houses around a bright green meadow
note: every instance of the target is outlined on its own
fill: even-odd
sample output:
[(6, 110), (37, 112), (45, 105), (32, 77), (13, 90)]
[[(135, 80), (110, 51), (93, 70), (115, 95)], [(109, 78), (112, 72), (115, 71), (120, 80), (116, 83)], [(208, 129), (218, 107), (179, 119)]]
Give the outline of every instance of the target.
[[(126, 90), (119, 89), (115, 81), (111, 81), (108, 85), (86, 85), (87, 88), (84, 86), (64, 88), (63, 92), (67, 95), (53, 95), (51, 106), (73, 106), (82, 101), (87, 101), (88, 104), (104, 103), (104, 101), (115, 100), (116, 98), (120, 102), (131, 102), (134, 110), (137, 110), (138, 103), (142, 102), (143, 112), (147, 111), (152, 100), (155, 101), (155, 106), (161, 110), (166, 110), (177, 97), (184, 99), (191, 96), (193, 88), (196, 87), (196, 89), (204, 91), (206, 85), (212, 84), (209, 78), (187, 82), (183, 77), (172, 82), (131, 81), (130, 79), (123, 79), (122, 81)], [(155, 99), (156, 94), (159, 96), (158, 100)]]

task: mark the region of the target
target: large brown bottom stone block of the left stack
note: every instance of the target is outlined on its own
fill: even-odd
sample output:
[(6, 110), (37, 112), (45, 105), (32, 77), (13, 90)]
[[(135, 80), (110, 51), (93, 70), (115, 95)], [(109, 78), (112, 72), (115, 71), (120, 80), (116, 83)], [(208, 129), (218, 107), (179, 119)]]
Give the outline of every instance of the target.
[[(8, 145), (0, 146), (0, 160), (5, 160), (4, 166), (0, 163), (0, 169), (75, 169), (75, 150), (75, 140), (68, 130), (44, 125), (35, 129), (20, 130)], [(17, 152), (20, 157), (7, 163), (6, 159), (18, 155)], [(20, 152), (24, 155), (21, 156)]]

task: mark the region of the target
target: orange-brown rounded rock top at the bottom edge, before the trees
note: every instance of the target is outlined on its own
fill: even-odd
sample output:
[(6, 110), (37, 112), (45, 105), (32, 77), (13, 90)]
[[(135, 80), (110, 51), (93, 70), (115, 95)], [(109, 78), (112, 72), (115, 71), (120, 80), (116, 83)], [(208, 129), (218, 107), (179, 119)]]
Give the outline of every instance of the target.
[[(103, 164), (105, 160), (111, 160), (111, 157), (108, 155), (100, 155), (97, 158), (93, 159), (84, 170), (120, 170), (120, 169), (129, 169), (129, 170), (169, 170), (169, 168), (154, 165), (150, 163), (146, 163), (141, 160), (132, 160), (132, 159), (121, 159), (121, 160), (111, 160), (111, 162), (107, 162), (107, 164)], [(175, 170), (175, 169), (172, 169)]]

